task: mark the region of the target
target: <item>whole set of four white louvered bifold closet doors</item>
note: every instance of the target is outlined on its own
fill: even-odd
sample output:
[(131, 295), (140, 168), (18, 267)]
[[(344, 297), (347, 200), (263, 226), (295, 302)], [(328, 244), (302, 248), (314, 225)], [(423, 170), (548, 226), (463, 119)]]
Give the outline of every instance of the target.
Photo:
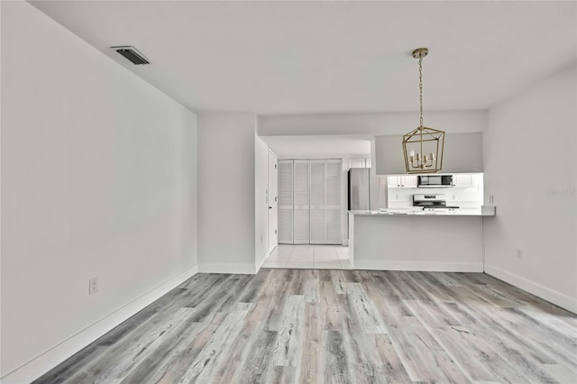
[(341, 244), (341, 160), (279, 160), (279, 243)]

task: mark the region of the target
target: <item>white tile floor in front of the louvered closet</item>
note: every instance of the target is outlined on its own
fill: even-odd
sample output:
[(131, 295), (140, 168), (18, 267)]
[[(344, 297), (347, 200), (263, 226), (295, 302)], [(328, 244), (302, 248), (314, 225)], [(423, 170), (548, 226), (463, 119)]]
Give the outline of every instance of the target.
[(345, 245), (279, 244), (262, 268), (353, 270)]

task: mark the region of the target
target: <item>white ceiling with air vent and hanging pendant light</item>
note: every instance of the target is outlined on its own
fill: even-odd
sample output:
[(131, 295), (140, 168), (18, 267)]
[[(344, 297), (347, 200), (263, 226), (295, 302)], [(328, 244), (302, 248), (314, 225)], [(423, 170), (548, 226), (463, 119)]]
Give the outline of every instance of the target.
[(573, 1), (32, 4), (197, 113), (416, 111), (421, 46), (426, 111), (486, 109), (576, 59)]

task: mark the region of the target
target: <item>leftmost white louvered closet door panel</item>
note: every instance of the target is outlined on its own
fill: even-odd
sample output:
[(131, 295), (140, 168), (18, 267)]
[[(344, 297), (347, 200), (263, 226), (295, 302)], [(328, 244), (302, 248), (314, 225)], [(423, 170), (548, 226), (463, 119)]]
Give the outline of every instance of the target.
[(293, 243), (293, 160), (279, 160), (279, 244)]

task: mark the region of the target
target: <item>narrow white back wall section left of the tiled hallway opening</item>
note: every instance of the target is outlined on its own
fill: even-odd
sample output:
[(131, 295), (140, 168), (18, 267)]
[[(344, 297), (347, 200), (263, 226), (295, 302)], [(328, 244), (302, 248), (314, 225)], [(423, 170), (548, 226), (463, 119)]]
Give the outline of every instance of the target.
[(255, 273), (254, 114), (198, 116), (198, 270)]

